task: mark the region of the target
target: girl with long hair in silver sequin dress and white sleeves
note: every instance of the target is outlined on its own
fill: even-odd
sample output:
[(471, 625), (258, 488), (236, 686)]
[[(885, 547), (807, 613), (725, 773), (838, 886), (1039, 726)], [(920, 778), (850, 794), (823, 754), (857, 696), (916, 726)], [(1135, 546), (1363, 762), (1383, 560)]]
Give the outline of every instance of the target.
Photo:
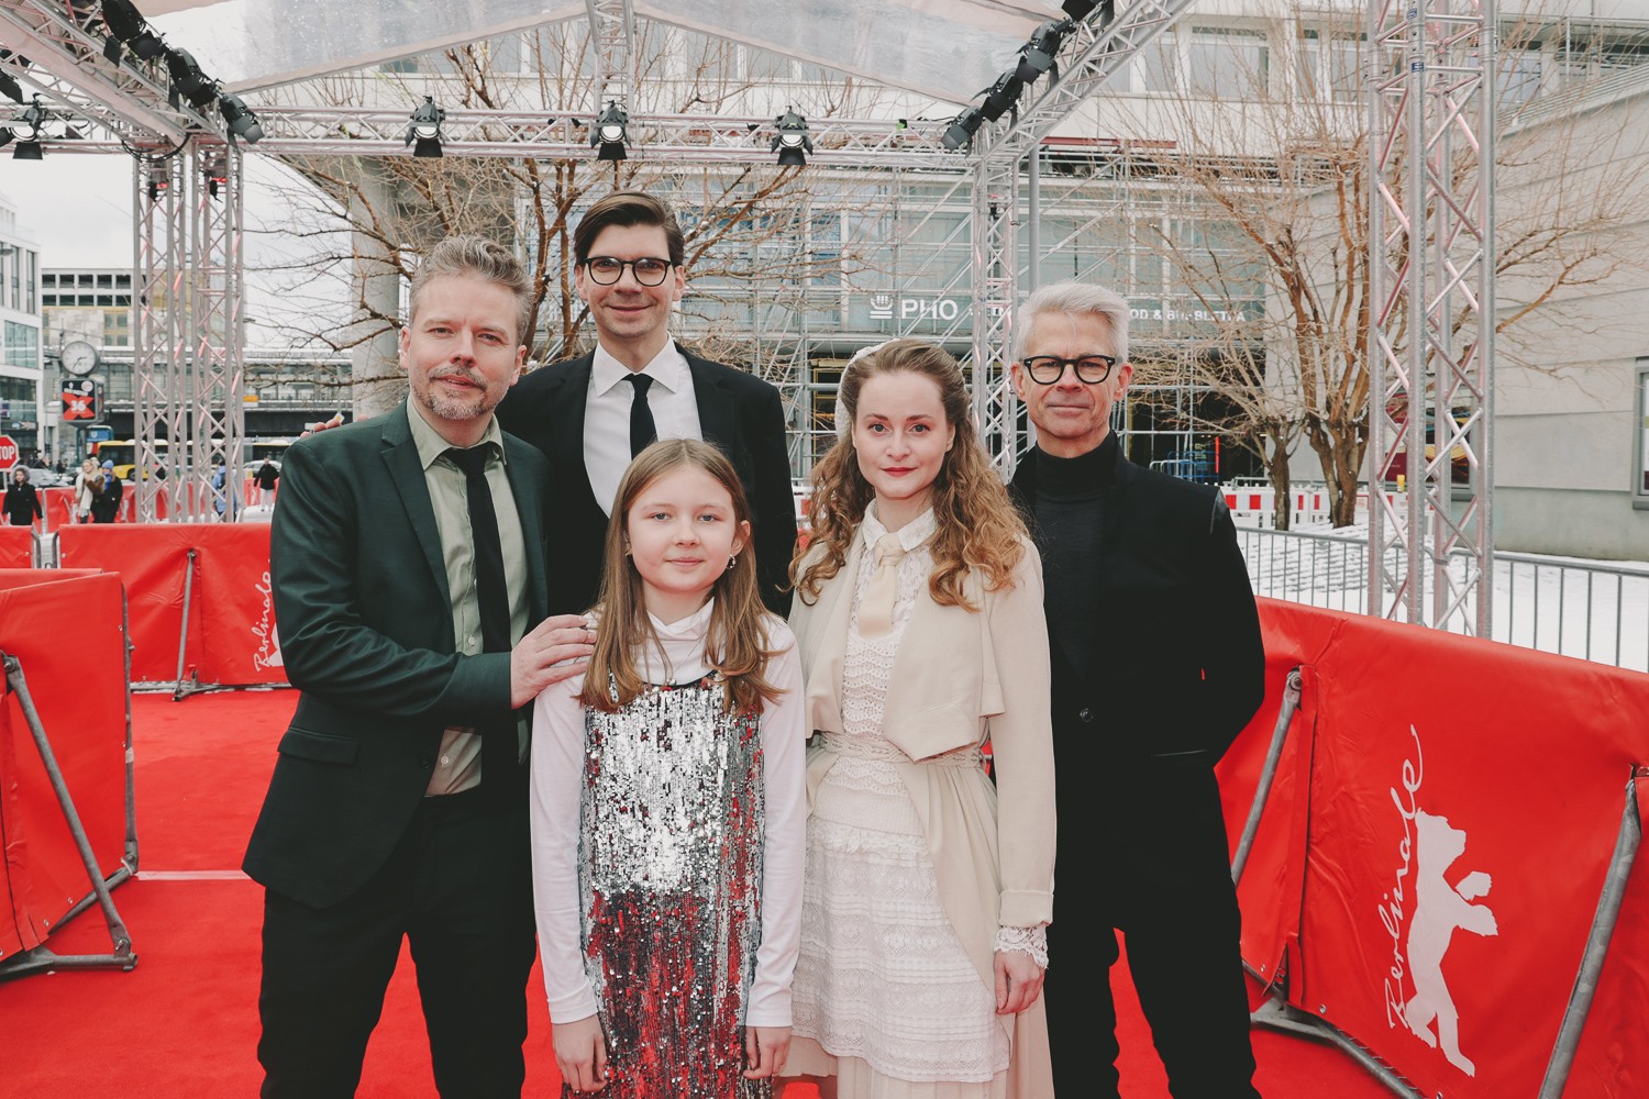
[(757, 1099), (790, 1048), (801, 671), (762, 608), (732, 463), (637, 455), (595, 652), (533, 725), (538, 941), (564, 1096)]

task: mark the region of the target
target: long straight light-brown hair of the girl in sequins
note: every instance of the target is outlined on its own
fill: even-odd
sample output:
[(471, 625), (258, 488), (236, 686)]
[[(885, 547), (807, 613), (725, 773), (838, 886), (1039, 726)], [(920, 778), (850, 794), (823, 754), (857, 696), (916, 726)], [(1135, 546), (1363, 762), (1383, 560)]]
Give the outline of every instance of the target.
[[(607, 522), (607, 560), (602, 567), (595, 652), (590, 656), (589, 671), (584, 674), (584, 692), (579, 695), (579, 702), (587, 707), (610, 713), (635, 702), (650, 685), (641, 677), (637, 657), (645, 644), (660, 652), (663, 646), (646, 616), (641, 573), (625, 554), (625, 522), (637, 498), (653, 481), (681, 466), (702, 470), (727, 489), (732, 498), (734, 524), (750, 519), (739, 473), (712, 443), (696, 438), (663, 438), (635, 456), (618, 481), (613, 514)], [(755, 549), (749, 539), (734, 567), (716, 578), (711, 598), (716, 600), (716, 608), (711, 611), (709, 633), (704, 638), (704, 662), (726, 679), (727, 712), (755, 712), (763, 700), (777, 702), (783, 692), (767, 680), (767, 662), (778, 656), (778, 651), (767, 648), (767, 608), (762, 606), (757, 590)], [(617, 699), (610, 685), (617, 689)]]

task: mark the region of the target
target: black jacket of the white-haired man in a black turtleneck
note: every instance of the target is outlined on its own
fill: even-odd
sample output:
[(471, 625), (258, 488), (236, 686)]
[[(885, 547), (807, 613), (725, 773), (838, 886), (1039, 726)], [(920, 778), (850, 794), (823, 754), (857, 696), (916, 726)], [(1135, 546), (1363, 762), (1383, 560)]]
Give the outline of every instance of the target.
[[(1209, 486), (1139, 468), (1120, 447), (1115, 455), (1093, 562), (1105, 644), (1090, 667), (1055, 657), (1054, 728), (1098, 735), (1123, 756), (1212, 765), (1265, 699), (1237, 527)], [(1036, 465), (1036, 451), (1026, 455), (1009, 484), (1032, 537)]]

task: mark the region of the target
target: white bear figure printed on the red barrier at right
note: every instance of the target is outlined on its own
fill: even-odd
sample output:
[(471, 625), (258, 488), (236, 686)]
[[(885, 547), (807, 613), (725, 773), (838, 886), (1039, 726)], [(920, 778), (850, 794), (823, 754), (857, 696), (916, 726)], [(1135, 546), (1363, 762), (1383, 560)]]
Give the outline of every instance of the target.
[[(1403, 1010), (1408, 1030), (1431, 1048), (1441, 1048), (1448, 1063), (1476, 1076), (1478, 1066), (1459, 1051), (1459, 1012), (1443, 979), (1443, 954), (1454, 929), (1499, 934), (1494, 913), (1473, 900), (1489, 891), (1489, 875), (1473, 870), (1449, 885), (1443, 873), (1466, 852), (1466, 834), (1425, 809), (1415, 811), (1416, 873), (1415, 921), (1408, 926), (1408, 972), (1415, 995)], [(1436, 1023), (1436, 1033), (1431, 1025)]]

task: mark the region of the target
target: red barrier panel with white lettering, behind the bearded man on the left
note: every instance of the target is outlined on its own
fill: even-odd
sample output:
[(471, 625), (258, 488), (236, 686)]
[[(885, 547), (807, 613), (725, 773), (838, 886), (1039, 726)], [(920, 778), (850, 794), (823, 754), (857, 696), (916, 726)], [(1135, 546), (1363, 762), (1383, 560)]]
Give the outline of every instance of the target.
[(285, 682), (269, 595), (269, 526), (92, 524), (58, 532), (64, 567), (120, 573), (130, 598), (132, 682), (175, 682), (188, 554), (195, 557), (185, 676), (203, 684)]

